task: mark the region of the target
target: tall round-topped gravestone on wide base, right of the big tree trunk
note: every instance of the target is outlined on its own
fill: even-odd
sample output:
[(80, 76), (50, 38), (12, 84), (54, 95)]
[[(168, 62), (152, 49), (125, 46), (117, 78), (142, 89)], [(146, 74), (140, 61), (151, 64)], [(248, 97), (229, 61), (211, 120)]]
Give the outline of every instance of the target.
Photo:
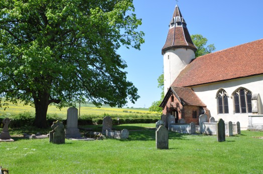
[(66, 138), (78, 138), (81, 136), (78, 129), (78, 109), (70, 107), (67, 110)]

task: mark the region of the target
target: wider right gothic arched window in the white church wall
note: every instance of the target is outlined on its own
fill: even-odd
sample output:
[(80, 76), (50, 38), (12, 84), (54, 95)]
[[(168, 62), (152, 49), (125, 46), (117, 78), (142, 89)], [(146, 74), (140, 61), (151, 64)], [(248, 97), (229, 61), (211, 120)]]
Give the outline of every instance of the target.
[(252, 92), (245, 88), (238, 88), (235, 92), (233, 92), (233, 100), (234, 100), (234, 111), (235, 113), (251, 113), (252, 112), (252, 104), (251, 104), (251, 96)]

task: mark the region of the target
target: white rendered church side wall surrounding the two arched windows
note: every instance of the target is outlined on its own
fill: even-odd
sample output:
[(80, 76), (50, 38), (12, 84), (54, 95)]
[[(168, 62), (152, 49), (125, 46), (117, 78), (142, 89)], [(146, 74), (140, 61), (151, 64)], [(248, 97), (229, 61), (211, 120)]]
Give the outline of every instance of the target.
[[(225, 122), (232, 121), (240, 122), (240, 127), (247, 128), (248, 126), (248, 115), (252, 113), (234, 113), (233, 98), (231, 98), (232, 93), (238, 88), (244, 87), (250, 90), (253, 93), (259, 93), (260, 95), (260, 105), (258, 108), (262, 108), (262, 98), (263, 98), (263, 75), (257, 75), (246, 78), (239, 78), (234, 80), (229, 80), (225, 82), (217, 82), (206, 85), (200, 85), (192, 87), (195, 93), (199, 98), (207, 105), (207, 108), (210, 110), (211, 116), (218, 120), (222, 118)], [(223, 88), (228, 94), (228, 109), (229, 113), (218, 114), (217, 113), (217, 91)], [(259, 109), (261, 110), (261, 109)], [(262, 114), (259, 113), (258, 114)]]

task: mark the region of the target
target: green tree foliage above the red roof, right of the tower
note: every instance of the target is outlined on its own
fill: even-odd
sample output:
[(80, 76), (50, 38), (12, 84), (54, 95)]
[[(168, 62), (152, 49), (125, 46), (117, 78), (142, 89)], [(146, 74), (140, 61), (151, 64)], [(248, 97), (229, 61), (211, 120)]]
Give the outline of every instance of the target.
[(207, 43), (207, 38), (203, 37), (201, 34), (193, 34), (191, 35), (191, 38), (197, 47), (197, 50), (195, 52), (195, 57), (199, 57), (201, 55), (205, 55), (208, 53), (211, 53), (212, 51), (215, 50), (214, 44), (209, 44), (206, 45)]

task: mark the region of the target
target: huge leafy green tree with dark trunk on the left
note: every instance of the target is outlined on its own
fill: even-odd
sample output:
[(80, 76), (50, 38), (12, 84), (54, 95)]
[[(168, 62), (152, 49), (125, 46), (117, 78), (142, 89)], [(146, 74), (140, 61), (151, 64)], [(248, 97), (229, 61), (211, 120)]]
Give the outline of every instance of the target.
[(116, 52), (144, 42), (133, 0), (1, 0), (0, 9), (0, 106), (35, 106), (46, 127), (51, 103), (121, 107), (140, 97)]

